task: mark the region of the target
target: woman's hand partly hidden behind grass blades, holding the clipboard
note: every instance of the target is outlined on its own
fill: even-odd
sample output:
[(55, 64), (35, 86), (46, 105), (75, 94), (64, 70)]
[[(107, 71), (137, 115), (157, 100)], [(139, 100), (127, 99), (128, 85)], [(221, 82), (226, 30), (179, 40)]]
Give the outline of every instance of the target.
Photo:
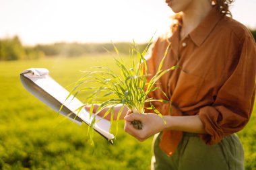
[[(93, 109), (92, 112), (96, 113), (99, 107), (100, 107), (99, 104), (94, 104), (94, 109)], [(119, 110), (121, 109), (121, 107), (122, 107), (122, 105), (116, 105), (116, 106), (114, 107), (114, 117), (113, 117), (114, 120), (117, 120), (117, 115), (118, 115)], [(86, 105), (84, 108), (85, 108), (88, 112), (90, 112), (91, 105)], [(103, 117), (107, 110), (108, 110), (108, 108), (104, 108), (103, 110), (101, 110), (100, 112), (98, 112), (97, 115), (100, 116), (100, 117)], [(123, 112), (122, 112), (122, 114), (121, 114), (121, 116), (120, 116), (119, 119), (123, 119), (123, 117), (125, 117), (125, 114), (127, 113), (127, 111), (128, 111), (128, 108), (125, 107), (125, 108), (123, 109)], [(104, 118), (105, 118), (106, 120), (110, 120), (110, 118), (111, 118), (111, 113), (108, 113)]]

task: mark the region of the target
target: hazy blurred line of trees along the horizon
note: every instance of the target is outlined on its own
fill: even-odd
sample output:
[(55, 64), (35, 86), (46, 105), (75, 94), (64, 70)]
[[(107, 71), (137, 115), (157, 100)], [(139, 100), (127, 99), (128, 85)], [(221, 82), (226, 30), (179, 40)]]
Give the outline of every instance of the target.
[[(256, 40), (256, 30), (251, 30)], [(138, 44), (143, 50), (147, 44)], [(116, 43), (120, 53), (129, 54), (131, 44), (129, 42)], [(0, 60), (37, 59), (48, 56), (81, 56), (83, 54), (114, 52), (111, 43), (67, 43), (59, 42), (55, 44), (38, 44), (36, 46), (22, 46), (20, 38), (0, 39)]]

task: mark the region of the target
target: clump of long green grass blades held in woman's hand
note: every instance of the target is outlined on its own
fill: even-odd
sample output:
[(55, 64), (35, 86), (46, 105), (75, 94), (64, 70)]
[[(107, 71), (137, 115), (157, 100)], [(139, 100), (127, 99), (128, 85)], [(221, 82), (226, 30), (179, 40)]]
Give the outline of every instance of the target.
[[(84, 71), (85, 75), (74, 83), (74, 87), (71, 90), (69, 96), (67, 96), (67, 98), (71, 95), (75, 97), (78, 93), (81, 93), (82, 91), (90, 91), (89, 95), (86, 96), (85, 99), (85, 105), (91, 105), (90, 118), (94, 110), (94, 104), (98, 104), (100, 106), (94, 114), (97, 115), (102, 110), (106, 110), (106, 108), (108, 108), (103, 118), (110, 114), (111, 125), (113, 124), (114, 107), (117, 105), (122, 105), (121, 110), (119, 110), (117, 115), (117, 124), (125, 106), (127, 106), (127, 108), (129, 108), (129, 110), (133, 113), (142, 114), (144, 112), (146, 103), (149, 103), (150, 105), (150, 107), (147, 108), (148, 110), (154, 110), (154, 112), (164, 120), (164, 117), (158, 110), (156, 110), (156, 108), (152, 104), (152, 101), (169, 103), (170, 100), (168, 99), (164, 91), (162, 91), (160, 87), (156, 87), (155, 84), (158, 79), (160, 79), (160, 77), (162, 77), (169, 71), (174, 70), (176, 66), (170, 67), (166, 70), (162, 69), (164, 59), (166, 58), (166, 54), (170, 47), (169, 44), (166, 48), (164, 56), (162, 57), (162, 60), (158, 67), (158, 71), (151, 79), (149, 79), (149, 77), (152, 75), (149, 75), (149, 68), (145, 55), (150, 48), (150, 44), (152, 44), (152, 38), (148, 42), (148, 45), (143, 50), (143, 52), (139, 52), (139, 48), (133, 40), (129, 54), (129, 65), (123, 62), (123, 58), (119, 53), (117, 46), (113, 44), (115, 52), (118, 56), (118, 59), (114, 58), (115, 64), (118, 67), (120, 73), (116, 73), (108, 67), (92, 67), (89, 71)], [(167, 100), (153, 99), (148, 97), (149, 93), (156, 90), (162, 91), (162, 93), (164, 93), (164, 95), (166, 96)], [(85, 105), (83, 105), (82, 107), (84, 107)], [(93, 120), (90, 124), (90, 128), (88, 128), (88, 133), (90, 134), (90, 136), (92, 135), (91, 130), (94, 124), (97, 122), (95, 120), (95, 116), (92, 119)], [(165, 120), (164, 123), (166, 123)], [(131, 122), (131, 124), (133, 124), (134, 128), (143, 128), (141, 122), (137, 120), (134, 120), (133, 122)], [(90, 138), (92, 139), (92, 137)]]

